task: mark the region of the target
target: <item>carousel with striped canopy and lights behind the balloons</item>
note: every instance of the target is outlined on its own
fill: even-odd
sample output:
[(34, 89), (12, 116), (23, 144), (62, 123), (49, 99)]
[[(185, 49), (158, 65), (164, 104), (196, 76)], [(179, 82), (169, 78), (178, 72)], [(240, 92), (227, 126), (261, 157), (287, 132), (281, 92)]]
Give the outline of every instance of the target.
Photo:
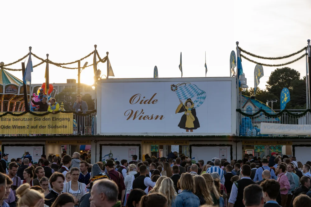
[[(45, 83), (44, 83), (45, 85)], [(51, 84), (50, 84), (51, 85)], [(42, 85), (27, 85), (27, 97), (37, 97)], [(52, 90), (51, 90), (52, 89)], [(31, 92), (30, 92), (31, 91)], [(35, 92), (35, 93), (33, 93)], [(49, 98), (56, 95), (56, 90), (50, 86)], [(14, 75), (0, 68), (0, 106), (1, 112), (6, 111), (25, 111), (29, 100), (25, 105), (23, 81), (16, 78)]]

